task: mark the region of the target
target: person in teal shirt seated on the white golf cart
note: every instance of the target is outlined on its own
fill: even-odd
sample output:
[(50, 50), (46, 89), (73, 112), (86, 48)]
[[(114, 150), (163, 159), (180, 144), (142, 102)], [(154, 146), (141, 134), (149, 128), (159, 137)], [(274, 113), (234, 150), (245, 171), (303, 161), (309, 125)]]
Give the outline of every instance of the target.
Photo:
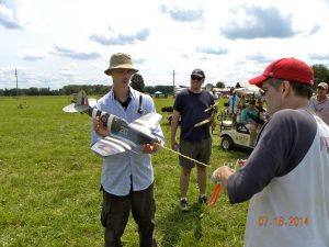
[(256, 100), (250, 100), (248, 108), (241, 112), (240, 123), (245, 124), (250, 132), (250, 146), (254, 146), (257, 127), (260, 124), (260, 120), (258, 120), (259, 112), (260, 111), (256, 108)]

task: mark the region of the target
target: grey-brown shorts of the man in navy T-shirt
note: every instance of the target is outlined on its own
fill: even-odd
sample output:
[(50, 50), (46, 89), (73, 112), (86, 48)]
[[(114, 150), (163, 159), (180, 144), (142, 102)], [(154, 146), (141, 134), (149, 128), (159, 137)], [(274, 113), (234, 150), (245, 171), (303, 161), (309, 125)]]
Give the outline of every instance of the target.
[[(197, 161), (209, 164), (212, 155), (212, 138), (203, 139), (200, 143), (180, 142), (180, 153)], [(182, 156), (179, 156), (180, 165), (184, 168), (192, 169), (195, 162)]]

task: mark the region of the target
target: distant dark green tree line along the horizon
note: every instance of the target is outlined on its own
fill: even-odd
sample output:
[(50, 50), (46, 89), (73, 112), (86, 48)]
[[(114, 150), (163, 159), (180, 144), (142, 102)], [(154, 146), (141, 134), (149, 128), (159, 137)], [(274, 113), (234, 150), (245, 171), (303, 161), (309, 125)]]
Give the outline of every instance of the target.
[[(316, 90), (318, 83), (321, 81), (329, 82), (329, 69), (325, 65), (311, 66), (315, 79), (314, 89)], [(238, 82), (237, 82), (238, 83)], [(160, 91), (163, 94), (172, 94), (173, 86), (145, 86), (144, 78), (139, 74), (135, 74), (132, 77), (131, 86), (141, 92), (154, 94), (156, 91)], [(225, 82), (218, 81), (214, 83), (215, 87), (224, 88)], [(29, 88), (29, 89), (0, 89), (0, 97), (15, 97), (15, 96), (70, 96), (72, 93), (84, 90), (87, 94), (103, 96), (111, 89), (111, 86), (104, 85), (68, 85), (60, 89), (50, 90), (49, 88)]]

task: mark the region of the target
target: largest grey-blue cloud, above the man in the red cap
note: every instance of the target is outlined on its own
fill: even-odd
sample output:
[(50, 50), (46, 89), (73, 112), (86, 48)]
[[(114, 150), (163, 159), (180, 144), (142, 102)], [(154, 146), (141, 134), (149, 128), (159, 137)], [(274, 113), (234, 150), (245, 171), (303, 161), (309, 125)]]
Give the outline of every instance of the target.
[(292, 14), (283, 16), (277, 8), (243, 5), (231, 10), (234, 19), (220, 32), (229, 40), (292, 37), (297, 34), (292, 25)]

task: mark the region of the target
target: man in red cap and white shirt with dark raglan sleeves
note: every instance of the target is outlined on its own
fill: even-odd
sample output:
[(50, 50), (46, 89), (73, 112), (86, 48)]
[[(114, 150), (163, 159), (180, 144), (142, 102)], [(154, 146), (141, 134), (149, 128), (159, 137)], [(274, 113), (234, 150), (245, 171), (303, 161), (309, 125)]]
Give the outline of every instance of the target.
[(308, 108), (314, 72), (282, 58), (261, 76), (271, 117), (238, 171), (220, 167), (230, 203), (250, 200), (245, 246), (329, 246), (329, 126)]

